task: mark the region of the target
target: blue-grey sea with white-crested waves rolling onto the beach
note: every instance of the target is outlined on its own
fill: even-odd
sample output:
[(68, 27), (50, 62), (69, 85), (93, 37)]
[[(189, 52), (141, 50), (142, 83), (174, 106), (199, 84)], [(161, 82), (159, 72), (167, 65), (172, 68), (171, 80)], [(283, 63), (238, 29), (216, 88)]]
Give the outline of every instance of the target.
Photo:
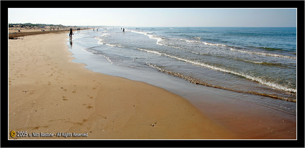
[[(123, 32), (124, 28), (124, 32)], [(296, 114), (296, 27), (95, 27), (67, 41), (73, 62), (189, 100), (222, 96)]]

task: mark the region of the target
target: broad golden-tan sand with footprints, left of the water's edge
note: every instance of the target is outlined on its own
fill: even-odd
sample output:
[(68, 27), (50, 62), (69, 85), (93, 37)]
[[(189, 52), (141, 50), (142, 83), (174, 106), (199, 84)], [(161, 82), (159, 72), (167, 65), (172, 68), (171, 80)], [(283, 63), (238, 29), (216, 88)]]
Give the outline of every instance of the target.
[(88, 137), (8, 139), (237, 139), (183, 97), (71, 62), (66, 33), (22, 38), (8, 41), (9, 132)]

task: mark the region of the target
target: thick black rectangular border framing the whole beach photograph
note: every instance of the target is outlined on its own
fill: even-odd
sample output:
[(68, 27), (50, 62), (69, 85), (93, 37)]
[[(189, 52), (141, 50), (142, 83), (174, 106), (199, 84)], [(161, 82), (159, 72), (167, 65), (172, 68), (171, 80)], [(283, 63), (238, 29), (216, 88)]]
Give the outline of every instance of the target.
[[(304, 56), (304, 0), (297, 1), (6, 1), (1, 0), (2, 17), (8, 8), (297, 8), (298, 55)], [(37, 5), (33, 5), (37, 3)], [(114, 4), (115, 3), (115, 4)], [(47, 5), (50, 4), (50, 5)], [(113, 5), (114, 4), (114, 5)], [(7, 7), (7, 9), (5, 8)], [(21, 16), (22, 17), (22, 16)], [(3, 20), (3, 19), (2, 19)], [(2, 22), (3, 23), (3, 22)], [(2, 31), (1, 37), (7, 37)], [(2, 44), (4, 48), (4, 44)], [(299, 72), (303, 72), (303, 60), (299, 61)], [(300, 66), (301, 64), (301, 66)], [(299, 75), (299, 80), (303, 75)], [(7, 79), (2, 82), (7, 82)], [(304, 81), (300, 81), (304, 82)], [(301, 83), (301, 86), (303, 83)], [(300, 83), (299, 83), (300, 86)], [(301, 89), (303, 90), (303, 89)], [(1, 147), (304, 147), (304, 100), (299, 95), (297, 112), (298, 140), (7, 140), (2, 132)], [(5, 99), (2, 98), (3, 104)], [(4, 108), (6, 108), (4, 107)], [(2, 117), (7, 113), (2, 111)], [(2, 120), (2, 129), (7, 129), (6, 120)], [(2, 130), (6, 131), (6, 130)], [(7, 140), (7, 141), (5, 141)]]

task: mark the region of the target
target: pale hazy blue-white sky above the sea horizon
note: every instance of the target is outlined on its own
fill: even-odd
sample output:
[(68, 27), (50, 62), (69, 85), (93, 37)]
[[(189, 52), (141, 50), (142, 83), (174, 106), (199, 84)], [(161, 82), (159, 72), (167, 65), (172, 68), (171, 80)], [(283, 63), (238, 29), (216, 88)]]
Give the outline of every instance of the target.
[(65, 26), (296, 27), (296, 9), (9, 8), (8, 22)]

